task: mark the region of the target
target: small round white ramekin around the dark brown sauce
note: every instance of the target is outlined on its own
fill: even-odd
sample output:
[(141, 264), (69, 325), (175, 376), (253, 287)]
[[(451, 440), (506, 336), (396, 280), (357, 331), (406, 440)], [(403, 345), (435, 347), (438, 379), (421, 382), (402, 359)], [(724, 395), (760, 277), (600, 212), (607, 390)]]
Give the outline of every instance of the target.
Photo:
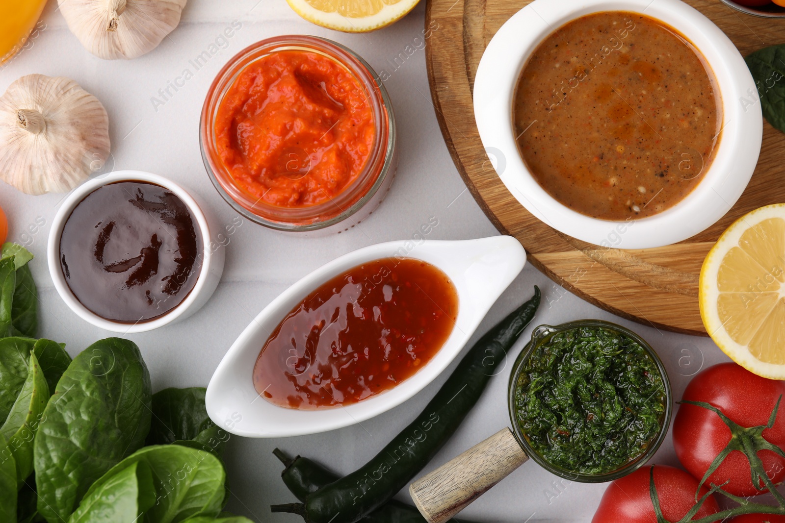
[[(199, 224), (199, 231), (202, 234), (203, 245), (203, 260), (202, 269), (199, 272), (194, 288), (185, 296), (185, 299), (174, 307), (171, 311), (167, 312), (160, 318), (155, 318), (151, 321), (141, 321), (139, 323), (122, 323), (119, 321), (111, 321), (106, 318), (101, 318), (97, 314), (89, 311), (87, 307), (79, 303), (74, 293), (68, 288), (68, 283), (65, 281), (63, 270), (60, 267), (60, 235), (63, 233), (63, 227), (71, 212), (75, 209), (76, 205), (91, 192), (95, 191), (98, 187), (104, 186), (108, 183), (122, 182), (122, 181), (141, 181), (155, 183), (172, 191), (180, 198), (182, 202), (188, 207), (194, 220)], [(212, 242), (212, 233), (216, 231), (214, 227), (210, 226), (205, 212), (205, 206), (199, 203), (188, 194), (182, 187), (173, 181), (152, 173), (144, 173), (142, 171), (115, 171), (108, 173), (105, 176), (100, 176), (93, 180), (88, 180), (79, 187), (77, 187), (71, 194), (64, 199), (60, 210), (54, 217), (52, 223), (52, 230), (49, 232), (49, 242), (47, 245), (47, 261), (49, 263), (49, 274), (54, 281), (54, 287), (60, 294), (63, 301), (79, 315), (83, 320), (112, 332), (145, 332), (152, 329), (158, 329), (162, 325), (173, 323), (174, 321), (188, 318), (191, 314), (199, 311), (207, 300), (210, 299), (218, 281), (221, 280), (221, 274), (224, 271), (224, 259), (226, 256), (225, 249), (222, 246), (214, 248), (215, 244)]]

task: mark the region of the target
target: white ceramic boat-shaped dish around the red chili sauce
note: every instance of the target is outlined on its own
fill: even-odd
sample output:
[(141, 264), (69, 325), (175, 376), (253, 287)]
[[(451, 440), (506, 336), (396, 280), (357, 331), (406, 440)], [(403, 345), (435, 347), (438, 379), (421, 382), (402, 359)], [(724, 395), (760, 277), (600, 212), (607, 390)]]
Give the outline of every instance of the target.
[[(385, 257), (424, 260), (439, 267), (458, 289), (458, 318), (450, 337), (414, 376), (392, 390), (353, 405), (320, 410), (286, 409), (269, 403), (254, 388), (252, 373), (269, 332), (313, 289), (360, 263)], [(232, 434), (249, 438), (282, 438), (315, 434), (360, 423), (414, 396), (461, 352), (498, 299), (526, 263), (526, 252), (515, 238), (427, 240), (370, 245), (349, 252), (305, 276), (270, 303), (240, 334), (207, 386), (207, 413)]]

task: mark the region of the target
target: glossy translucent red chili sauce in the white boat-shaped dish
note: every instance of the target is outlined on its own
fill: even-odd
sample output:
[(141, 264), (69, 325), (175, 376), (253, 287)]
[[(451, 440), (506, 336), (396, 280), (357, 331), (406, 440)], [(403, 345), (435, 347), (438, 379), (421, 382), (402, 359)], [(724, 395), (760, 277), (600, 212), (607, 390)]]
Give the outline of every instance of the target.
[(437, 267), (410, 258), (363, 263), (279, 323), (254, 365), (254, 387), (290, 409), (362, 401), (422, 369), (457, 317), (458, 292)]

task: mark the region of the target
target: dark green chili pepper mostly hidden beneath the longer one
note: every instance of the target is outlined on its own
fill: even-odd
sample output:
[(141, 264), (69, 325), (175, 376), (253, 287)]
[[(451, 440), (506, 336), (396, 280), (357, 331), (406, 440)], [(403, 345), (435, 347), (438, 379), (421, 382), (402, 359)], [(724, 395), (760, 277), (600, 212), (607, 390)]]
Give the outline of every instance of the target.
[[(297, 456), (291, 459), (279, 449), (272, 451), (286, 468), (281, 472), (283, 483), (290, 492), (300, 501), (305, 501), (305, 496), (316, 492), (333, 481), (338, 481), (340, 476), (327, 470), (312, 459)], [(425, 523), (420, 511), (411, 505), (391, 499), (382, 507), (368, 514), (360, 523)], [(472, 521), (451, 519), (448, 523), (472, 523)]]

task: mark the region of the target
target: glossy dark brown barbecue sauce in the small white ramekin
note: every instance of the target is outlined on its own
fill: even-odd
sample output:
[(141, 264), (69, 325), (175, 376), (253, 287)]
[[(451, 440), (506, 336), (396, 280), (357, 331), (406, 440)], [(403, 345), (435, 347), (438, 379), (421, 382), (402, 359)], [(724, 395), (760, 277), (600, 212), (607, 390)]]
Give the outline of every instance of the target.
[(60, 235), (68, 288), (93, 314), (122, 323), (151, 321), (182, 303), (199, 278), (202, 253), (188, 206), (141, 181), (89, 193)]

